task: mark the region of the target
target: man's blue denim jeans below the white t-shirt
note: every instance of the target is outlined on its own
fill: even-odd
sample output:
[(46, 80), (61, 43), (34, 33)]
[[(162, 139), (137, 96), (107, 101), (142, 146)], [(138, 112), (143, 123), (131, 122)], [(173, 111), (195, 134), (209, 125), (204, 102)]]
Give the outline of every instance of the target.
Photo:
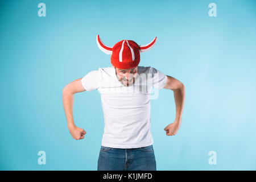
[(101, 146), (98, 171), (156, 171), (153, 146), (141, 148)]

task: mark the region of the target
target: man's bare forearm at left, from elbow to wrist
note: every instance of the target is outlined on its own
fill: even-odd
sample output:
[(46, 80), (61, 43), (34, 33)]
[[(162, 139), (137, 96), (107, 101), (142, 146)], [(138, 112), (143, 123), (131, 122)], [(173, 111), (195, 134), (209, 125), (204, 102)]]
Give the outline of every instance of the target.
[(68, 128), (74, 127), (74, 119), (73, 119), (73, 103), (74, 103), (74, 94), (68, 93), (63, 90), (63, 106), (65, 110), (65, 115), (68, 122)]

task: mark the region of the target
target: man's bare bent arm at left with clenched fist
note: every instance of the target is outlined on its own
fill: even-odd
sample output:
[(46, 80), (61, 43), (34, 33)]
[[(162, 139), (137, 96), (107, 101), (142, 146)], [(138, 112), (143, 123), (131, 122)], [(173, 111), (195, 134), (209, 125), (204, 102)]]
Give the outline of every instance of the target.
[(68, 129), (74, 139), (83, 139), (84, 135), (86, 134), (86, 131), (76, 127), (73, 119), (74, 94), (85, 91), (84, 87), (82, 86), (81, 79), (82, 78), (79, 78), (70, 82), (63, 89), (63, 106), (65, 115), (67, 117)]

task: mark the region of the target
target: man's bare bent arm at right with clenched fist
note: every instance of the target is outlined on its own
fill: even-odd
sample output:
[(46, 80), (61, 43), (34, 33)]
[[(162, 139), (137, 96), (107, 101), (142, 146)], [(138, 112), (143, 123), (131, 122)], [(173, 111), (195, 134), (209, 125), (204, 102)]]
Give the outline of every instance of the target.
[(179, 80), (174, 77), (167, 76), (167, 83), (164, 86), (165, 89), (174, 91), (174, 100), (176, 105), (176, 118), (174, 123), (168, 125), (164, 131), (167, 135), (176, 135), (177, 130), (181, 125), (183, 107), (185, 104), (185, 86)]

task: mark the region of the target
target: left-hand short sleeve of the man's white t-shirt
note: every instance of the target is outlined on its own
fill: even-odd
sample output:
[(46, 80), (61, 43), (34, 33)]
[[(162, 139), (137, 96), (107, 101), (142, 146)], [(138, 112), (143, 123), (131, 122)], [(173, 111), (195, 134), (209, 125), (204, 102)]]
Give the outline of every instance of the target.
[(100, 84), (99, 74), (100, 73), (98, 70), (94, 70), (87, 73), (87, 75), (85, 75), (84, 77), (82, 77), (81, 79), (82, 86), (86, 91), (90, 92), (92, 90), (98, 89)]

